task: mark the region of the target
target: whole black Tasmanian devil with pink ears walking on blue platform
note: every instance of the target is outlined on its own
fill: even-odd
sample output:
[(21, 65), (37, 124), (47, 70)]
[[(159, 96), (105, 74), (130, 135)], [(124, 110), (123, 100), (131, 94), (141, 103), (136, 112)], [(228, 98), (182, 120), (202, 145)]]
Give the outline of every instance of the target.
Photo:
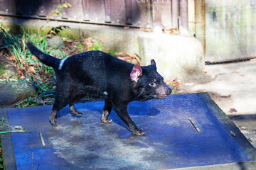
[(144, 135), (127, 113), (130, 101), (147, 101), (166, 98), (171, 89), (164, 78), (156, 72), (156, 62), (140, 67), (108, 55), (101, 51), (82, 52), (65, 59), (57, 59), (38, 50), (32, 42), (27, 43), (33, 55), (50, 67), (56, 74), (56, 95), (50, 113), (50, 123), (57, 125), (57, 113), (69, 104), (75, 115), (82, 115), (75, 109), (78, 99), (87, 96), (102, 96), (105, 106), (101, 115), (102, 123), (111, 123), (110, 111), (119, 115), (134, 135)]

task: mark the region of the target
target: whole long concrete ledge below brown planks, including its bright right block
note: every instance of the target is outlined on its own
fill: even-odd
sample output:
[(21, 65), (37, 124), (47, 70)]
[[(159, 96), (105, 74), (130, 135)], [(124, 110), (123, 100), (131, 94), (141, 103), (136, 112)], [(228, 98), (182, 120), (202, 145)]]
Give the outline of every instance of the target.
[(59, 21), (47, 23), (45, 20), (11, 17), (5, 17), (0, 22), (8, 28), (20, 24), (25, 30), (29, 29), (30, 33), (38, 32), (39, 28), (42, 33), (46, 33), (52, 27), (68, 26), (61, 31), (61, 36), (93, 38), (102, 45), (103, 50), (118, 50), (129, 55), (137, 53), (142, 57), (144, 65), (149, 64), (151, 59), (156, 60), (159, 73), (165, 79), (185, 79), (189, 74), (202, 72), (204, 66), (203, 45), (193, 37), (146, 33), (137, 28), (125, 30), (113, 26)]

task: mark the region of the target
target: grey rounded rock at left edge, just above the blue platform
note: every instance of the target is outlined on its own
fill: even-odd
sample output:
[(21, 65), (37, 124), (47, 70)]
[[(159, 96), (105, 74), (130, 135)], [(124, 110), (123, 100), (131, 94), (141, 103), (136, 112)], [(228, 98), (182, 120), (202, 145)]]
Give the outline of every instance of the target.
[(36, 95), (36, 89), (31, 84), (22, 81), (0, 81), (0, 106), (12, 105), (29, 95)]

